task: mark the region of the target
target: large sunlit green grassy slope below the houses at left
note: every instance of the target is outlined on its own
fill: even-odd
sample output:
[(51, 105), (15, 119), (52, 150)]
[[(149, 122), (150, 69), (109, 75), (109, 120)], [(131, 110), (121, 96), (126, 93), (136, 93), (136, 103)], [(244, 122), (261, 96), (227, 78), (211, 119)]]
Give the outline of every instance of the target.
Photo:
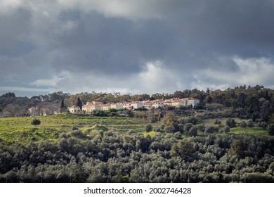
[(117, 129), (127, 132), (134, 129), (143, 132), (146, 122), (141, 118), (128, 117), (88, 117), (78, 115), (48, 115), (36, 117), (41, 125), (34, 127), (30, 122), (34, 117), (7, 117), (0, 119), (0, 138), (9, 143), (26, 143), (48, 139), (54, 141), (63, 132), (71, 132), (72, 127), (86, 130)]

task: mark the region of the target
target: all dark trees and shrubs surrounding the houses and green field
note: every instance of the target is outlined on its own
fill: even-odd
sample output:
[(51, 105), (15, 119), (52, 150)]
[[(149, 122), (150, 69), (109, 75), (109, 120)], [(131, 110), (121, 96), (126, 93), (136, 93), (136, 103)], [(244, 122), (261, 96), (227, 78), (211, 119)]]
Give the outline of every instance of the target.
[[(200, 105), (195, 113), (185, 107), (126, 111), (126, 118), (140, 118), (143, 132), (153, 135), (134, 129), (91, 134), (83, 125), (63, 125), (54, 140), (18, 144), (0, 138), (0, 182), (274, 182), (273, 89), (256, 85), (132, 96), (56, 92), (32, 98), (7, 93), (0, 96), (0, 113), (25, 116), (31, 106), (60, 108), (62, 101), (70, 106), (78, 97), (83, 103), (194, 97)], [(119, 118), (119, 113), (90, 116)]]

